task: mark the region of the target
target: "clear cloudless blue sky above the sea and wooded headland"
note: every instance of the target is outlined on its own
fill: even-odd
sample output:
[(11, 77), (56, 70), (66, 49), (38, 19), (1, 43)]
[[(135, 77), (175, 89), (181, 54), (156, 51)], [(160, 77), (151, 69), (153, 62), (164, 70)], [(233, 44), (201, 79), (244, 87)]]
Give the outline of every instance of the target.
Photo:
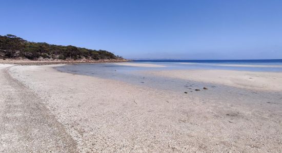
[(135, 59), (282, 59), (282, 1), (7, 1), (0, 35)]

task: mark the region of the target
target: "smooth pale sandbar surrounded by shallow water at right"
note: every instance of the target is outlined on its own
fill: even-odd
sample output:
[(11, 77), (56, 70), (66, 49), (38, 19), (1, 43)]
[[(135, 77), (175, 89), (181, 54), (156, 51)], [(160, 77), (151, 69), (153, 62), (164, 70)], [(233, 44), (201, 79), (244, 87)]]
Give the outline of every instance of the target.
[(238, 88), (282, 91), (282, 73), (234, 70), (150, 71), (154, 75), (234, 86)]

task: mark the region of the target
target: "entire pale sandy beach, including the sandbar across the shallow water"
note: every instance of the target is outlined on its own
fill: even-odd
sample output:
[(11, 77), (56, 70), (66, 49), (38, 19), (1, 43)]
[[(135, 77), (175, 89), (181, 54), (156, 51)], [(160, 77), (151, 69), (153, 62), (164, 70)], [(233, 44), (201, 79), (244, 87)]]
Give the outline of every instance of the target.
[(0, 64), (0, 152), (282, 150), (280, 73), (147, 72), (230, 89), (193, 95), (59, 72), (56, 66)]

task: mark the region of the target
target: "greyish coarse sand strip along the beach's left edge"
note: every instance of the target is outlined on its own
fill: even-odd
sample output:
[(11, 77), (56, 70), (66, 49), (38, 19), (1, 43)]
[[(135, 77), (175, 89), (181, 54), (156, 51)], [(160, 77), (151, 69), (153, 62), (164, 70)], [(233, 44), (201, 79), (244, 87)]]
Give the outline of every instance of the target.
[(76, 152), (64, 126), (32, 90), (0, 67), (0, 152)]

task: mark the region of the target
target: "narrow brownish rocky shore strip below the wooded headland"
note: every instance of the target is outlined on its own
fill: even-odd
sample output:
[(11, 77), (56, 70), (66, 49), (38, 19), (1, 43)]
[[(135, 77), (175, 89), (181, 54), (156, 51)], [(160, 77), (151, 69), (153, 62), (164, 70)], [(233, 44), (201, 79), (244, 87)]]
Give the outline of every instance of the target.
[(54, 61), (32, 61), (32, 60), (3, 60), (0, 59), (0, 64), (16, 64), (16, 65), (54, 65), (54, 64), (87, 64), (87, 63), (118, 63), (128, 62), (126, 59), (104, 59), (95, 61), (86, 60), (54, 60)]

